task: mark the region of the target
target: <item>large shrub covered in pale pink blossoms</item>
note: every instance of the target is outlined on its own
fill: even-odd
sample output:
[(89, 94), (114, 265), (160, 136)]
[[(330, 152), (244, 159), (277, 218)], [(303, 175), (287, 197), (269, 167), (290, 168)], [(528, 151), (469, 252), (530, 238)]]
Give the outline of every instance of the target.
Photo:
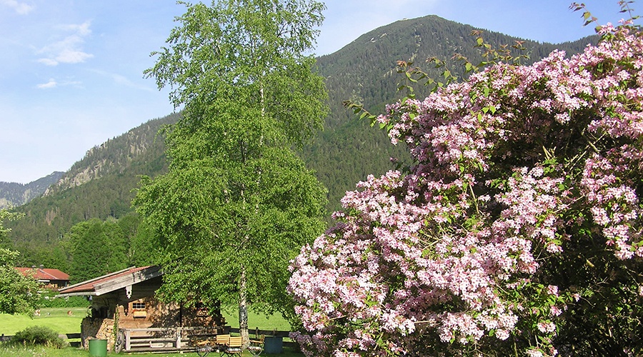
[(643, 36), (600, 34), (387, 107), (415, 164), (292, 261), (307, 356), (642, 351)]

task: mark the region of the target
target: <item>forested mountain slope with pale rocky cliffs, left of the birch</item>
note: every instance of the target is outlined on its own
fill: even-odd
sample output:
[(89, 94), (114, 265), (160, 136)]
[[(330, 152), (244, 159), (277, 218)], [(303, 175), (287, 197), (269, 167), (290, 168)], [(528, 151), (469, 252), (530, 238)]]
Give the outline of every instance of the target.
[(65, 252), (57, 248), (71, 226), (91, 218), (121, 218), (132, 211), (139, 177), (166, 170), (164, 139), (158, 133), (177, 118), (171, 114), (148, 121), (87, 151), (44, 196), (14, 209), (24, 218), (6, 225), (9, 241), (0, 245), (21, 251), (22, 265), (64, 268), (59, 262)]

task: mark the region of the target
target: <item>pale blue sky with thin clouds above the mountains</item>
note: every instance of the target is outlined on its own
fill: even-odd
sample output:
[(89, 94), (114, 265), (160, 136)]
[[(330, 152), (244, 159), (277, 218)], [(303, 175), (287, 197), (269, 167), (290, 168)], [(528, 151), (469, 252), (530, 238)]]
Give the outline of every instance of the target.
[[(540, 42), (594, 34), (568, 0), (324, 2), (316, 55), (430, 14)], [(617, 0), (584, 4), (601, 24), (629, 17)], [(184, 10), (171, 0), (0, 0), (0, 181), (67, 171), (92, 147), (174, 111), (143, 71)]]

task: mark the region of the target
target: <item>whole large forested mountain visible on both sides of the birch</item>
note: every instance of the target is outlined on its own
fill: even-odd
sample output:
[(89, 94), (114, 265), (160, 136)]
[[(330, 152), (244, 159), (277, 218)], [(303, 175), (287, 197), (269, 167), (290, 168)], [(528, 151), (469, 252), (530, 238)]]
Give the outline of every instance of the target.
[[(390, 158), (409, 161), (403, 146), (393, 146), (384, 131), (357, 120), (344, 109), (342, 101), (360, 101), (372, 113), (382, 113), (385, 104), (399, 98), (397, 87), (403, 77), (396, 71), (398, 60), (414, 61), (438, 77), (440, 72), (430, 68), (426, 60), (447, 59), (452, 73), (462, 76), (459, 65), (450, 60), (453, 54), (462, 54), (473, 63), (482, 61), (472, 30), (472, 26), (437, 16), (397, 21), (360, 36), (334, 54), (318, 58), (319, 73), (327, 79), (330, 111), (324, 131), (299, 154), (329, 188), (329, 211), (339, 206), (339, 199), (354, 189), (357, 181), (392, 169)], [(495, 47), (517, 40), (494, 32), (485, 32), (484, 39)], [(595, 37), (556, 45), (525, 41), (524, 46), (531, 56), (529, 61), (535, 61), (553, 49), (573, 54), (595, 41)], [(428, 87), (416, 88), (419, 96), (428, 91)], [(56, 262), (46, 260), (53, 256), (49, 253), (52, 249), (61, 246), (71, 226), (90, 218), (104, 220), (131, 214), (130, 202), (139, 176), (165, 172), (164, 139), (158, 132), (178, 118), (179, 114), (171, 114), (148, 121), (87, 151), (45, 196), (15, 208), (25, 216), (6, 224), (12, 231), (9, 241), (0, 245), (19, 249), (24, 266), (44, 263), (59, 268)]]

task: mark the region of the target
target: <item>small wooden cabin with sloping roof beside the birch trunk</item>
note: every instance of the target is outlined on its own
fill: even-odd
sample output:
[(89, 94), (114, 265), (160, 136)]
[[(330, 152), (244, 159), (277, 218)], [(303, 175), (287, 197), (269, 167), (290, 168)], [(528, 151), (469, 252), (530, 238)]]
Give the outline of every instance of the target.
[(181, 350), (189, 348), (191, 336), (226, 330), (218, 307), (157, 300), (162, 275), (159, 266), (132, 267), (62, 288), (61, 297), (91, 300), (91, 313), (81, 323), (82, 345), (100, 338), (115, 351)]

